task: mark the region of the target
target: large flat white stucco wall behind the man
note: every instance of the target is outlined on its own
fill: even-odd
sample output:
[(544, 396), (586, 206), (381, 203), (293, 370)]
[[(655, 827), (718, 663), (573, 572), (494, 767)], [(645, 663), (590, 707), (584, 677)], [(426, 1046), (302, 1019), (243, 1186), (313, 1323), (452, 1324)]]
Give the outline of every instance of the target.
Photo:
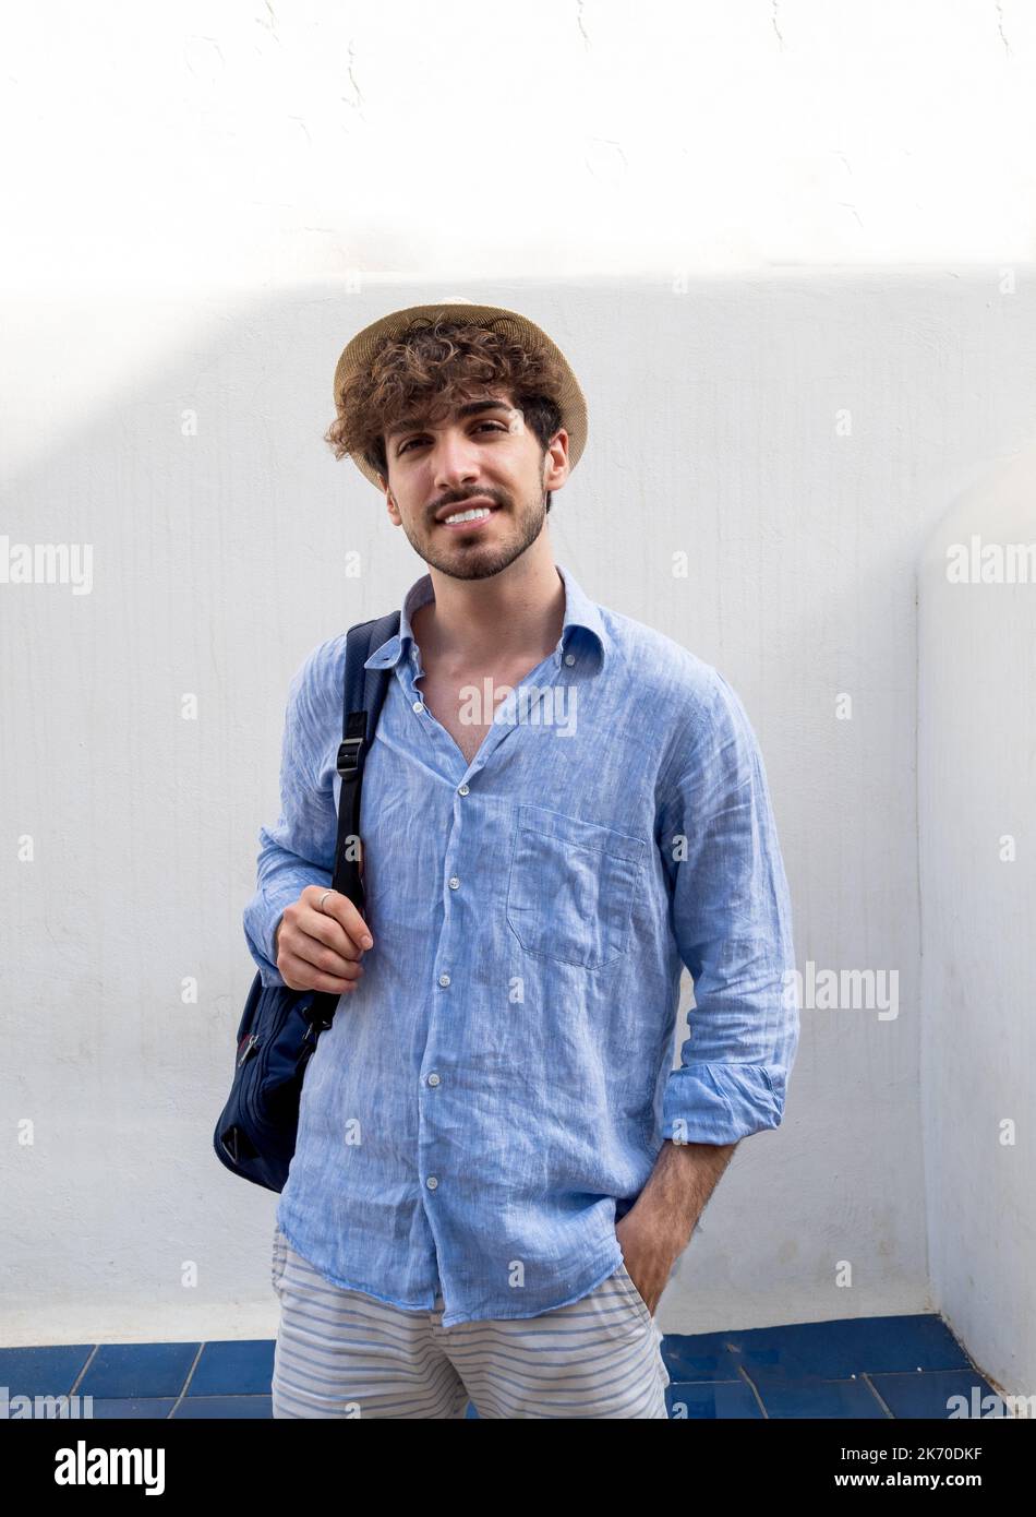
[[(916, 563), (1033, 431), (1031, 14), (273, 11), (12, 23), (0, 536), (91, 545), (93, 584), (0, 584), (0, 1341), (275, 1330), (275, 1198), (211, 1150), (241, 907), (290, 675), (423, 569), (322, 443), (331, 378), (376, 314), (460, 293), (526, 311), (587, 391), (555, 555), (742, 695), (799, 966), (898, 975), (895, 1016), (804, 1009), (786, 1123), (742, 1147), (661, 1326), (945, 1305), (1024, 1390), (992, 1261), (940, 1232), (968, 1086), (922, 1062)], [(962, 980), (959, 1022), (986, 1000)]]

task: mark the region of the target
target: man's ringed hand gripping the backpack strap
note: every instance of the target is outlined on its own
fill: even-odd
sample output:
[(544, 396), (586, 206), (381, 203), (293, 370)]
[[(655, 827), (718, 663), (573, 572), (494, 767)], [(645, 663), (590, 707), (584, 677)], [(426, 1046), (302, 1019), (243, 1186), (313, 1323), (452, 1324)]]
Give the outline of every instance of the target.
[(373, 947), (370, 928), (347, 895), (331, 890), (317, 909), (326, 886), (308, 884), (297, 901), (285, 907), (273, 936), (278, 969), (290, 991), (355, 991), (364, 972), (364, 950)]

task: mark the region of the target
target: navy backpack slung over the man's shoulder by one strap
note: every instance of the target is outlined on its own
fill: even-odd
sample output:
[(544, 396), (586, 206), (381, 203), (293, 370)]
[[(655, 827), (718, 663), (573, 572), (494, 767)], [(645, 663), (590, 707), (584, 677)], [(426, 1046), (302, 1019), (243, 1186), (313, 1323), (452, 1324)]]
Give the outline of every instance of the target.
[[(331, 887), (363, 912), (358, 862), (347, 857), (359, 837), (364, 760), (388, 689), (391, 669), (364, 669), (375, 648), (399, 631), (399, 611), (358, 622), (346, 634), (338, 774), (338, 837)], [(363, 850), (363, 840), (359, 843)], [(244, 1180), (282, 1191), (299, 1130), (299, 1100), (306, 1065), (320, 1033), (331, 1027), (338, 995), (264, 985), (256, 972), (237, 1033), (234, 1083), (215, 1124), (212, 1144), (221, 1162)]]

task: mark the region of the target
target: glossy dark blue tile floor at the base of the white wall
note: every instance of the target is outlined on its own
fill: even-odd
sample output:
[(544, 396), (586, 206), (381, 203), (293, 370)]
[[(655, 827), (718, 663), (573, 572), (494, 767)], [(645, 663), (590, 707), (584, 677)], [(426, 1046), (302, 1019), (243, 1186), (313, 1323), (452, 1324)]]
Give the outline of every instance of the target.
[[(663, 1356), (673, 1420), (947, 1418), (951, 1396), (995, 1394), (928, 1314), (669, 1333)], [(93, 1396), (97, 1418), (272, 1417), (272, 1338), (0, 1349), (0, 1397)]]

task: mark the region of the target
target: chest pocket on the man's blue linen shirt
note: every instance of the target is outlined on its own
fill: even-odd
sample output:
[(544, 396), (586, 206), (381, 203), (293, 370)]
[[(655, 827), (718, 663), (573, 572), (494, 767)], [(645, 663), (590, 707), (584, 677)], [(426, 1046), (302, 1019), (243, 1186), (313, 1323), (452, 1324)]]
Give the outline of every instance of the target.
[(611, 827), (519, 807), (505, 915), (522, 948), (584, 969), (622, 959), (645, 846)]

